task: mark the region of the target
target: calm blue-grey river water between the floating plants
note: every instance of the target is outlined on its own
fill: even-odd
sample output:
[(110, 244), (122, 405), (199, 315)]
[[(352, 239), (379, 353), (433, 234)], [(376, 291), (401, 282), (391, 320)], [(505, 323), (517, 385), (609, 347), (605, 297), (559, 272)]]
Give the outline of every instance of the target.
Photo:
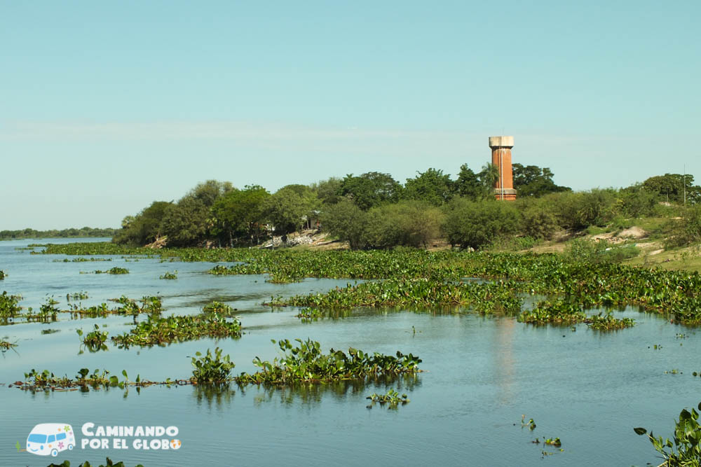
[[(60, 242), (55, 239), (50, 242)], [(61, 392), (32, 395), (0, 386), (0, 466), (46, 466), (64, 459), (104, 462), (105, 456), (131, 467), (151, 466), (644, 466), (659, 463), (648, 440), (634, 426), (671, 435), (683, 407), (701, 400), (700, 335), (693, 329), (641, 314), (637, 326), (597, 333), (587, 326), (534, 328), (515, 319), (470, 314), (358, 310), (346, 319), (300, 323), (294, 309), (271, 312), (261, 305), (271, 295), (327, 291), (347, 281), (308, 279), (298, 284), (268, 284), (264, 276), (217, 277), (210, 263), (161, 263), (157, 259), (57, 263), (64, 256), (30, 255), (15, 248), (36, 240), (0, 242), (0, 270), (9, 274), (0, 291), (21, 294), (21, 305), (38, 308), (53, 295), (65, 306), (67, 293), (87, 291), (84, 305), (128, 295), (163, 296), (168, 313), (196, 313), (211, 300), (238, 309), (245, 327), (239, 340), (199, 340), (170, 347), (79, 354), (76, 328), (106, 325), (110, 335), (130, 328), (131, 319), (70, 320), (0, 327), (3, 340), (17, 342), (1, 355), (0, 383), (23, 379), (32, 368), (73, 376), (80, 368), (127, 370), (130, 379), (189, 377), (188, 356), (215, 346), (236, 362), (235, 372), (255, 370), (254, 356), (274, 358), (271, 339), (311, 337), (329, 349), (418, 354), (425, 370), (416, 380), (388, 386), (369, 384), (311, 386), (296, 390), (245, 390), (212, 394), (192, 386), (152, 386), (124, 391)], [(72, 259), (74, 257), (69, 257)], [(79, 274), (126, 267), (130, 274)], [(177, 280), (161, 280), (178, 270)], [(61, 316), (60, 316), (61, 317)], [(416, 333), (412, 332), (412, 326)], [(59, 332), (42, 335), (41, 330)], [(686, 338), (677, 338), (685, 333)], [(653, 349), (653, 345), (661, 349)], [(665, 374), (679, 369), (683, 374)], [(120, 376), (121, 377), (121, 376)], [(388, 387), (407, 392), (411, 403), (399, 410), (376, 406), (365, 397)], [(537, 428), (520, 426), (521, 414)], [(56, 458), (17, 452), (40, 423), (70, 424), (78, 446)], [(81, 449), (81, 426), (177, 426), (180, 449)], [(564, 452), (543, 459), (531, 440), (559, 437)], [(163, 437), (168, 438), (168, 437)], [(150, 441), (153, 438), (146, 438)], [(158, 438), (160, 439), (160, 438)], [(109, 442), (114, 442), (109, 438)]]

